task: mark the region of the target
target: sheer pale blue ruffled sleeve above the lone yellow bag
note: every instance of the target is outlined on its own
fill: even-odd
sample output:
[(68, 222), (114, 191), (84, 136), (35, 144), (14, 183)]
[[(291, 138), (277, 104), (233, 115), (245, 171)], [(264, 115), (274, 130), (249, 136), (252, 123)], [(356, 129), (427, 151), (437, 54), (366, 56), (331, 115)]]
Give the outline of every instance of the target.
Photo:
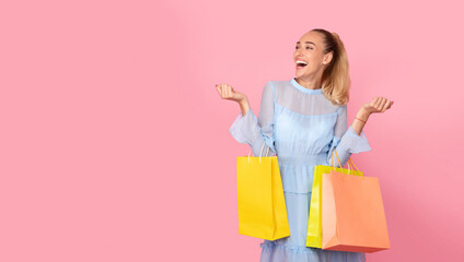
[[(229, 132), (239, 143), (250, 144), (254, 156), (259, 156), (263, 143), (269, 146), (268, 156), (276, 154), (274, 140), (274, 100), (275, 90), (272, 82), (269, 81), (263, 90), (258, 118), (256, 118), (256, 115), (250, 108), (245, 116), (240, 112), (229, 129)], [(264, 147), (263, 155), (266, 154), (267, 146)]]

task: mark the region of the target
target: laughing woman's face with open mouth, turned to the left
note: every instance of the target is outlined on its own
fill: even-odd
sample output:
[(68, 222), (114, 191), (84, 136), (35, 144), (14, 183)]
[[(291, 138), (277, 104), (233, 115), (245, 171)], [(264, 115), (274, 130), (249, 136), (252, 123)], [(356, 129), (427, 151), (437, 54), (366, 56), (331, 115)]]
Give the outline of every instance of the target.
[(314, 31), (308, 32), (297, 41), (293, 52), (297, 78), (322, 78), (332, 60), (332, 52), (324, 55), (324, 35)]

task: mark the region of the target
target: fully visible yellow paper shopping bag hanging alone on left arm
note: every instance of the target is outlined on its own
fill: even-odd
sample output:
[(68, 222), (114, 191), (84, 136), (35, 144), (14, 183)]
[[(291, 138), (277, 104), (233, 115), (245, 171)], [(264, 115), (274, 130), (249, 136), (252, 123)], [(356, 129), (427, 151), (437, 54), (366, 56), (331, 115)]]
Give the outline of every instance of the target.
[(290, 228), (277, 156), (262, 156), (263, 148), (259, 157), (236, 158), (239, 234), (276, 240)]

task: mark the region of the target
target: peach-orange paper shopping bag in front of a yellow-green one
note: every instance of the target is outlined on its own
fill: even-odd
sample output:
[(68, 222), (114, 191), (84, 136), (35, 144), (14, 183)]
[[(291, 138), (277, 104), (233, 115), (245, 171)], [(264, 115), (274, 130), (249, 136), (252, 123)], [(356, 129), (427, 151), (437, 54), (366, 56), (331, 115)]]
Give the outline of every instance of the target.
[(330, 170), (322, 180), (323, 249), (364, 253), (390, 249), (379, 179)]

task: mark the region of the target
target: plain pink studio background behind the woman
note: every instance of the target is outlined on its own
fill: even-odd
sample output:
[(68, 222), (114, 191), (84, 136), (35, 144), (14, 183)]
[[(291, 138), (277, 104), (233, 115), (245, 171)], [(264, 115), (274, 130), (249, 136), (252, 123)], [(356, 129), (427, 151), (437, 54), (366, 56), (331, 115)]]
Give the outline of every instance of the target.
[(237, 234), (240, 112), (294, 76), (311, 28), (350, 59), (349, 123), (395, 102), (353, 155), (379, 177), (392, 248), (464, 261), (460, 1), (2, 1), (0, 261), (258, 261)]

